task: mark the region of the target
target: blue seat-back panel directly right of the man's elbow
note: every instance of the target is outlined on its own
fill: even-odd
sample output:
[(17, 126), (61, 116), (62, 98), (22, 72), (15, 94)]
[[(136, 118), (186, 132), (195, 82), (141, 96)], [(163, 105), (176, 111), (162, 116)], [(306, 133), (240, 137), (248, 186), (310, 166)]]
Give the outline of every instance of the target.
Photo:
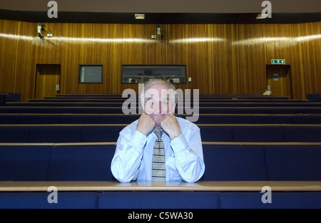
[(268, 180), (262, 146), (203, 145), (202, 180)]

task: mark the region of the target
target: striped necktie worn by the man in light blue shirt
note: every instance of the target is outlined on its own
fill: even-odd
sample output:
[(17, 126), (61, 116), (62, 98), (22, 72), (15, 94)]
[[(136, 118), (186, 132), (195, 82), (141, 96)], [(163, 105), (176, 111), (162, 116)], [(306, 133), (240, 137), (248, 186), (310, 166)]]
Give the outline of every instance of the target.
[(162, 140), (163, 130), (156, 131), (157, 140), (153, 149), (153, 166), (152, 166), (152, 181), (153, 182), (165, 182), (165, 149)]

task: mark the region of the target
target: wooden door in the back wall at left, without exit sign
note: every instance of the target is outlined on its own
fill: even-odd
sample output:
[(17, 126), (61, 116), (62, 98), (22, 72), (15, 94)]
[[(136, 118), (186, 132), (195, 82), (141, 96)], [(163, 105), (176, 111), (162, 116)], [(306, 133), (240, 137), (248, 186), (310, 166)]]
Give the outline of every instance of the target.
[(35, 98), (54, 97), (59, 93), (60, 71), (58, 64), (37, 64)]

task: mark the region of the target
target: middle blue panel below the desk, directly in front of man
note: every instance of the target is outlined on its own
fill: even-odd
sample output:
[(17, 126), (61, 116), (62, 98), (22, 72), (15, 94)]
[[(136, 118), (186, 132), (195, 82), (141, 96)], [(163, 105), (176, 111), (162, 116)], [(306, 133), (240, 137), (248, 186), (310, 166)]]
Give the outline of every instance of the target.
[(214, 209), (219, 207), (218, 194), (215, 192), (103, 192), (98, 204), (98, 208), (101, 209)]

